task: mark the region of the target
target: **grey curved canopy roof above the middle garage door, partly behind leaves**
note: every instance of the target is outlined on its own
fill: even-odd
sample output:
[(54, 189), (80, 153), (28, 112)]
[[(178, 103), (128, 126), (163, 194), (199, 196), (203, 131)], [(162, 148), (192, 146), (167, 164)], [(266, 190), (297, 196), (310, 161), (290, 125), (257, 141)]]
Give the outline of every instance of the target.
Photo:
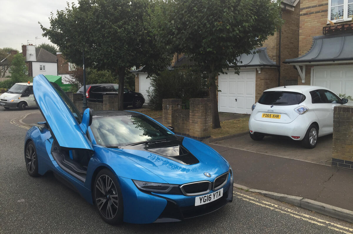
[[(252, 52), (258, 52), (253, 54)], [(229, 64), (234, 66), (234, 64)], [(240, 67), (249, 67), (249, 66), (278, 66), (273, 62), (267, 55), (267, 48), (257, 48), (251, 51), (251, 54), (241, 54), (238, 57), (238, 66)]]

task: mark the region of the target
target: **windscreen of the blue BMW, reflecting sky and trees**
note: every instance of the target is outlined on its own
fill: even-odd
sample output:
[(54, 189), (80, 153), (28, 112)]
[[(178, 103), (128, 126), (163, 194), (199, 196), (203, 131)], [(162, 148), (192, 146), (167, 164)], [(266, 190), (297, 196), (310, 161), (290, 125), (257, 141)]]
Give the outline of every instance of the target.
[(104, 147), (175, 139), (174, 134), (143, 115), (97, 117), (90, 128), (97, 144)]

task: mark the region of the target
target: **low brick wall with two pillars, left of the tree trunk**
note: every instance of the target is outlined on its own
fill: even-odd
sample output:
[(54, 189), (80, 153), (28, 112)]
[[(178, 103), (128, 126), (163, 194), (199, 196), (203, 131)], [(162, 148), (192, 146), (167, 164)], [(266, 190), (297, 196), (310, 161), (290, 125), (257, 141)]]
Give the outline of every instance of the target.
[(195, 139), (211, 135), (211, 103), (208, 98), (192, 98), (190, 110), (181, 109), (181, 99), (163, 99), (163, 124), (175, 133)]

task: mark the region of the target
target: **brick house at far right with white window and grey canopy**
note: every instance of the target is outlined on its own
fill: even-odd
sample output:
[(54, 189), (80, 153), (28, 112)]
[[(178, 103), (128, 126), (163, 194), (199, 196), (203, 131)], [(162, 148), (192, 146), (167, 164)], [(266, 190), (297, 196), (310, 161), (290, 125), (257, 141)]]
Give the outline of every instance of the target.
[(298, 84), (353, 96), (352, 14), (352, 0), (300, 1), (298, 57), (284, 62), (298, 71)]

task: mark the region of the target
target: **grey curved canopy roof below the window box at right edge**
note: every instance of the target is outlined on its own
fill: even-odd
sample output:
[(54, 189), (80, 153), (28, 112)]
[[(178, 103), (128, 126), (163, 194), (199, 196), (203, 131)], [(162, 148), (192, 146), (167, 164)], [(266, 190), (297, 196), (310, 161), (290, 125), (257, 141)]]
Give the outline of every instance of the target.
[(299, 58), (286, 59), (283, 63), (300, 64), (353, 60), (353, 33), (315, 36), (309, 52)]

